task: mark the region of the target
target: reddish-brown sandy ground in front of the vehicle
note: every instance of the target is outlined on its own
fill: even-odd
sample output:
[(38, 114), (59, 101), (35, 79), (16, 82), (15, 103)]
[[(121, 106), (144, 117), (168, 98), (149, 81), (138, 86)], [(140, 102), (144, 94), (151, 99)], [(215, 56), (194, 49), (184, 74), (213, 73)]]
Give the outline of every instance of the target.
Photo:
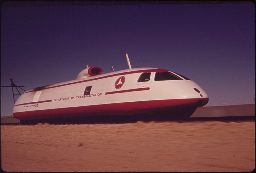
[(254, 121), (1, 126), (4, 171), (252, 171)]

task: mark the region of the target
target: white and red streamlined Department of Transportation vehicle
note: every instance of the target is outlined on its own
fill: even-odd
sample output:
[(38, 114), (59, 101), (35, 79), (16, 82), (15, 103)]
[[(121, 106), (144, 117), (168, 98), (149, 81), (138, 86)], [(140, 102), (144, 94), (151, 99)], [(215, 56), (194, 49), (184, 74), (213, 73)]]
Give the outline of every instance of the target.
[(75, 80), (28, 90), (16, 101), (13, 116), (20, 120), (161, 112), (172, 116), (172, 110), (188, 110), (186, 116), (190, 116), (208, 102), (200, 86), (169, 70), (130, 68), (102, 73), (100, 67), (87, 67)]

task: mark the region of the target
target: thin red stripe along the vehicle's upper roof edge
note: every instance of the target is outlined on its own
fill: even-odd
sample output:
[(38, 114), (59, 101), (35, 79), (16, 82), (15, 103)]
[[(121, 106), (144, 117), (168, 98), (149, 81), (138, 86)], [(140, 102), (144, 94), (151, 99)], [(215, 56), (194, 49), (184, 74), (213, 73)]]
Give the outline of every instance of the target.
[(168, 70), (157, 68), (157, 69), (151, 69), (151, 70), (149, 69), (149, 70), (137, 70), (137, 71), (131, 71), (131, 72), (123, 72), (123, 73), (117, 73), (117, 74), (114, 74), (114, 75), (98, 77), (98, 78), (94, 78), (94, 79), (87, 79), (87, 80), (83, 80), (83, 81), (77, 81), (77, 82), (66, 83), (66, 84), (62, 84), (62, 85), (56, 85), (56, 86), (52, 86), (52, 87), (46, 87), (46, 88), (39, 87), (40, 89), (35, 89), (35, 90), (27, 91), (27, 92), (24, 92), (24, 93), (39, 91), (39, 90), (45, 90), (45, 89), (50, 89), (50, 88), (56, 88), (56, 87), (61, 87), (61, 86), (66, 86), (66, 85), (72, 85), (72, 84), (76, 84), (76, 83), (84, 83), (84, 82), (88, 82), (88, 81), (94, 81), (94, 80), (104, 79), (104, 78), (118, 76), (118, 75), (128, 75), (128, 74), (133, 74), (133, 73), (147, 73), (147, 72), (167, 72), (167, 71)]

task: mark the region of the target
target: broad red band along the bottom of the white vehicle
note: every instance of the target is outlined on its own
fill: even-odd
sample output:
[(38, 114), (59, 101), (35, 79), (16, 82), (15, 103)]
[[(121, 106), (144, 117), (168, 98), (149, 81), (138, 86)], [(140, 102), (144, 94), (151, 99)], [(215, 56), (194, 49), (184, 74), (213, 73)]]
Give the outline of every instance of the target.
[(132, 115), (148, 113), (178, 106), (197, 105), (199, 100), (204, 100), (204, 104), (208, 102), (208, 98), (150, 100), (15, 112), (13, 113), (13, 116), (20, 120), (26, 120), (49, 117), (76, 117), (88, 115)]

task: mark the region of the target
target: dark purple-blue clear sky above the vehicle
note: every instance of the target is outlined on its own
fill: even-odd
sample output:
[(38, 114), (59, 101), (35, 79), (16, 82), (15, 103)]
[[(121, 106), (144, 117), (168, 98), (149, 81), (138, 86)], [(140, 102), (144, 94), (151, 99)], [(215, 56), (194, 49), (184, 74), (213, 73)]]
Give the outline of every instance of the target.
[[(1, 85), (9, 77), (25, 90), (73, 80), (87, 64), (103, 73), (127, 69), (128, 53), (132, 68), (164, 68), (195, 81), (209, 96), (206, 106), (254, 103), (251, 2), (35, 4), (2, 5)], [(12, 107), (11, 88), (1, 88), (1, 115)]]

